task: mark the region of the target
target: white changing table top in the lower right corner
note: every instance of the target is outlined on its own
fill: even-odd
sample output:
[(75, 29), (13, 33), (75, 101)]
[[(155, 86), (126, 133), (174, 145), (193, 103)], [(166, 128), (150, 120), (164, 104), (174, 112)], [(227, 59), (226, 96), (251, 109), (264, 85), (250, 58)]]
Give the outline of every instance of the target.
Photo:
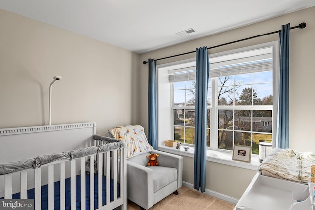
[(314, 192), (307, 184), (257, 172), (234, 210), (313, 210), (310, 193)]

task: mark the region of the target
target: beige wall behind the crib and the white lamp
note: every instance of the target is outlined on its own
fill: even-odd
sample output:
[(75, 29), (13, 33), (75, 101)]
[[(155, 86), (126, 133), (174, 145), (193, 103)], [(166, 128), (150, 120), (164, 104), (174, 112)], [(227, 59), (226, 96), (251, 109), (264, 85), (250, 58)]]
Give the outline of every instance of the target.
[(97, 133), (139, 123), (139, 55), (0, 10), (0, 128), (96, 122)]

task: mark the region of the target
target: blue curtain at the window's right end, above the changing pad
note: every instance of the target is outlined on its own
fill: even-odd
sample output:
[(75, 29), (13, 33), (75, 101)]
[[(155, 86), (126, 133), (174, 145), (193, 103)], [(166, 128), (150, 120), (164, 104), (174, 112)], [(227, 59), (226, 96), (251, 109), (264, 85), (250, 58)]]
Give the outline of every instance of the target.
[(278, 147), (289, 148), (289, 40), (290, 24), (282, 25), (280, 38)]

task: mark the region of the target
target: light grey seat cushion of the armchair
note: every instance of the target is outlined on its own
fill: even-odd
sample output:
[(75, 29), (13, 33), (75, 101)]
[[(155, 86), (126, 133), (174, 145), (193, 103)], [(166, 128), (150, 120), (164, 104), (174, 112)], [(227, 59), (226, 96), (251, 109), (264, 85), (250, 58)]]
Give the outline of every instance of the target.
[(153, 171), (153, 192), (177, 180), (177, 169), (164, 166), (148, 166)]

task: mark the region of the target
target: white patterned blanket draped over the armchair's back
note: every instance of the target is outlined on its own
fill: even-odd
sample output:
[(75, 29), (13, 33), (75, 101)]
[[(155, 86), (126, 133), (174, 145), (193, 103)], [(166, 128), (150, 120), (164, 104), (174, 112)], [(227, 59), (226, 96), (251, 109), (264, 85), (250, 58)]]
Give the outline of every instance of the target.
[(141, 125), (115, 127), (110, 129), (108, 133), (115, 139), (123, 140), (127, 143), (127, 158), (153, 150)]

